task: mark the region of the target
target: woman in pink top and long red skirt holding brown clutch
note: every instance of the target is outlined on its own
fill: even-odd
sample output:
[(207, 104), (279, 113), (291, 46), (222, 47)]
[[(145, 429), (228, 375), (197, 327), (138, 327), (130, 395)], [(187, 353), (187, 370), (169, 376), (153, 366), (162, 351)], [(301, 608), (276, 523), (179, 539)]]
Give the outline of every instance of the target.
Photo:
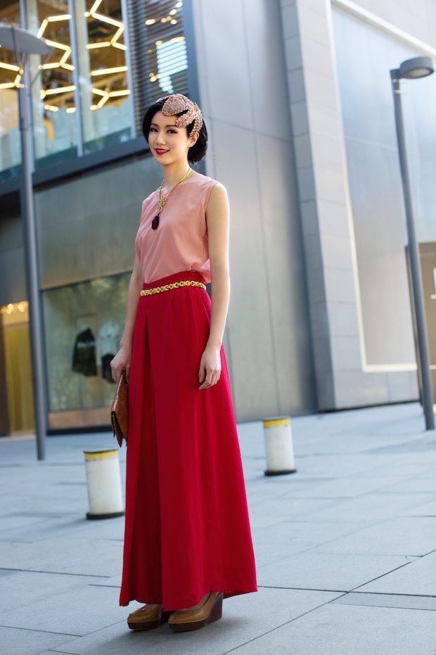
[[(229, 307), (226, 189), (195, 172), (207, 148), (200, 108), (156, 101), (143, 134), (163, 168), (143, 201), (113, 378), (129, 379), (120, 605), (129, 628), (195, 630), (222, 599), (257, 591), (241, 452), (222, 346)], [(205, 282), (212, 282), (212, 302)]]

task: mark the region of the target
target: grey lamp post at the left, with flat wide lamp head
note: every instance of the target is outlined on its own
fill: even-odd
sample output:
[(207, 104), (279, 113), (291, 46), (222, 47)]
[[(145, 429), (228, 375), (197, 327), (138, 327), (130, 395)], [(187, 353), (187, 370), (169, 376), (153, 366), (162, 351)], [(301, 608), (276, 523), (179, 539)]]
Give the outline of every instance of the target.
[[(15, 52), (20, 68), (27, 68), (30, 54), (48, 54), (51, 47), (44, 39), (21, 27), (0, 25), (0, 44)], [(20, 55), (22, 59), (20, 61)], [(28, 71), (27, 71), (28, 75)], [(42, 336), (41, 302), (39, 298), (39, 267), (37, 230), (34, 217), (32, 182), (32, 133), (30, 131), (30, 87), (18, 87), (21, 137), (21, 212), (26, 254), (27, 294), (30, 313), (30, 347), (32, 351), (33, 396), (37, 435), (37, 457), (45, 459), (46, 440), (46, 376), (44, 366), (44, 339)]]

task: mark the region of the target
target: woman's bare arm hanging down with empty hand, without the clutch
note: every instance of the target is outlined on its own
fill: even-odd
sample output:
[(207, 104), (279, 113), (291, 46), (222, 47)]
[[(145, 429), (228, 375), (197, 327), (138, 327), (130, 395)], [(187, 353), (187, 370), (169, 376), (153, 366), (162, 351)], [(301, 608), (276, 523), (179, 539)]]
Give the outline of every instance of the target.
[(221, 375), (220, 349), (226, 327), (230, 300), (229, 275), (229, 199), (222, 184), (210, 192), (206, 210), (209, 240), (210, 277), (212, 280), (212, 308), (209, 339), (200, 361), (198, 378), (200, 389), (215, 385)]

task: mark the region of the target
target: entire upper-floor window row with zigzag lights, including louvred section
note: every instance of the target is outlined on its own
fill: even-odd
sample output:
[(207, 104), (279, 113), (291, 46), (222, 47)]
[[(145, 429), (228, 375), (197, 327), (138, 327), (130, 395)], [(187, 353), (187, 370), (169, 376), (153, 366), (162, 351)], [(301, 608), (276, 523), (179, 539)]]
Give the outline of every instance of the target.
[[(0, 3), (0, 21), (27, 23), (52, 48), (48, 56), (30, 56), (29, 63), (35, 168), (132, 139), (132, 76), (142, 102), (165, 93), (188, 93), (183, 0), (144, 0), (140, 24), (133, 12), (134, 44), (141, 44), (133, 71), (123, 0), (22, 4), (25, 21), (20, 20), (18, 0)], [(13, 53), (0, 48), (0, 181), (20, 172), (20, 79)]]

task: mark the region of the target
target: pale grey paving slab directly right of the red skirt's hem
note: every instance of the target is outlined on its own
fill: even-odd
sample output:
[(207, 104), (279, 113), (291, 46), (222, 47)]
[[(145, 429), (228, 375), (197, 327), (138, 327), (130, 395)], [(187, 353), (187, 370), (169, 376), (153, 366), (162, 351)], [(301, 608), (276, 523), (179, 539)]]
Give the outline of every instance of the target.
[(405, 556), (304, 552), (260, 566), (257, 582), (264, 587), (350, 591), (410, 561)]

